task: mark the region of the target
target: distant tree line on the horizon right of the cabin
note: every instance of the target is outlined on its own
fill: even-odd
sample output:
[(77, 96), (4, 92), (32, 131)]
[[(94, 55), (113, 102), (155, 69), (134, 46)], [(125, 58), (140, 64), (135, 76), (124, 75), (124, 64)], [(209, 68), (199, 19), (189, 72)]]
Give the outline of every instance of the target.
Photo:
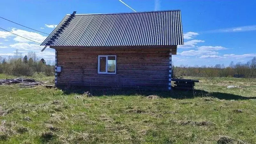
[(246, 78), (256, 78), (256, 57), (246, 63), (231, 61), (228, 67), (224, 64), (216, 64), (215, 66), (179, 66), (173, 68), (174, 76), (204, 76), (208, 79), (213, 77), (234, 77), (239, 75)]

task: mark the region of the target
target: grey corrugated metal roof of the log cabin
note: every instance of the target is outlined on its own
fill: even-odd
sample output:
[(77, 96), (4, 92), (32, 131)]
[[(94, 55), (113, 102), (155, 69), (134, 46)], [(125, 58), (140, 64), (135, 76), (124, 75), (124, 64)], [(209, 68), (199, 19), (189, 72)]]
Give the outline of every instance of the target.
[[(66, 15), (47, 41), (69, 17)], [(51, 46), (183, 45), (180, 10), (76, 14)]]

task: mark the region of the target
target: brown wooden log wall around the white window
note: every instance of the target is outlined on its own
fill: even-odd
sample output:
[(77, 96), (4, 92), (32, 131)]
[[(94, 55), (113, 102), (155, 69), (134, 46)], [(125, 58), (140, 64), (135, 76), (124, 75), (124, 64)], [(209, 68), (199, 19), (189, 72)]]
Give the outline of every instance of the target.
[[(173, 46), (173, 49), (177, 48)], [(165, 48), (55, 48), (61, 73), (56, 85), (170, 90), (170, 51)], [(171, 49), (171, 50), (170, 50)], [(116, 74), (98, 74), (98, 55), (116, 55)]]

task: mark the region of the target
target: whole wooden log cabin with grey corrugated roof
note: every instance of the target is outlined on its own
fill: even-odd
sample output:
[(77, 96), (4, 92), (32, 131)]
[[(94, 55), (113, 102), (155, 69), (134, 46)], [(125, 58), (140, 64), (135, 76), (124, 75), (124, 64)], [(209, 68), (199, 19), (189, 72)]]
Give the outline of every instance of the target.
[(183, 45), (181, 13), (73, 12), (41, 45), (55, 49), (56, 86), (168, 91), (172, 55)]

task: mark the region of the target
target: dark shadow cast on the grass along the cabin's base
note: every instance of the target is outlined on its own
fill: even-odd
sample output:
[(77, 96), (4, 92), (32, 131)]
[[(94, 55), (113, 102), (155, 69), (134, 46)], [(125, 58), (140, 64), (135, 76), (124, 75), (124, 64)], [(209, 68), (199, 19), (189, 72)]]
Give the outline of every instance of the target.
[[(61, 88), (60, 88), (61, 89)], [(122, 90), (113, 90), (113, 89), (84, 89), (84, 88), (72, 88), (72, 89), (63, 89), (62, 91), (65, 94), (84, 94), (89, 92), (92, 96), (148, 96), (148, 95), (157, 95), (162, 98), (173, 98), (173, 99), (192, 99), (195, 97), (213, 97), (220, 100), (248, 100), (256, 99), (256, 97), (243, 97), (230, 93), (222, 92), (207, 92), (204, 90), (178, 90), (172, 89), (172, 91), (154, 91), (154, 90), (142, 90), (142, 89), (122, 89)]]

